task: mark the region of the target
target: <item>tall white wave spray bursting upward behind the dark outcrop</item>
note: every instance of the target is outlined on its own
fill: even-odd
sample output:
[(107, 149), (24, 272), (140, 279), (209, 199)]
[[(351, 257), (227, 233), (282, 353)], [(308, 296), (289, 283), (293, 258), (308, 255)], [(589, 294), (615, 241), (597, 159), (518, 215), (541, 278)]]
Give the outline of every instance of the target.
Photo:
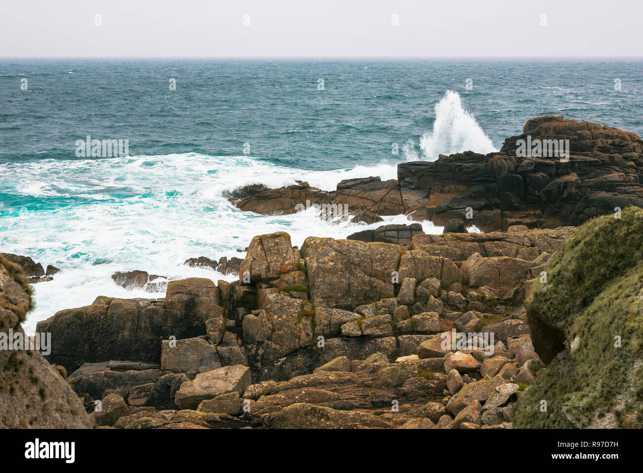
[(498, 151), (484, 133), (474, 116), (462, 107), (460, 95), (448, 90), (444, 97), (435, 104), (435, 121), (433, 129), (420, 138), (420, 151), (415, 150), (413, 142), (403, 146), (407, 161), (435, 161), (439, 154), (493, 153)]

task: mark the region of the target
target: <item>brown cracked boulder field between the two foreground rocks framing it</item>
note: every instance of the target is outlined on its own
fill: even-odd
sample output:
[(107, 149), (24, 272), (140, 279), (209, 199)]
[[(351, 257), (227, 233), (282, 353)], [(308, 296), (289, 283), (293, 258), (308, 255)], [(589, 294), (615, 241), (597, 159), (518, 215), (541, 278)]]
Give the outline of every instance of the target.
[(509, 428), (545, 367), (525, 292), (572, 232), (302, 248), (277, 232), (252, 239), (239, 281), (98, 297), (37, 332), (102, 428)]

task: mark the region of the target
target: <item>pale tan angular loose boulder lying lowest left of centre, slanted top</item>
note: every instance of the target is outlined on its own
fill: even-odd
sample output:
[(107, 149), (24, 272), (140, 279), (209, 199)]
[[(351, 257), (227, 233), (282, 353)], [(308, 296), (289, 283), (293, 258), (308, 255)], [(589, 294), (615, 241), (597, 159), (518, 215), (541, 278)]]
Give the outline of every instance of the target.
[(241, 395), (250, 384), (250, 369), (247, 366), (224, 366), (201, 373), (194, 380), (181, 384), (174, 400), (181, 409), (195, 409), (201, 401), (219, 394), (236, 391)]

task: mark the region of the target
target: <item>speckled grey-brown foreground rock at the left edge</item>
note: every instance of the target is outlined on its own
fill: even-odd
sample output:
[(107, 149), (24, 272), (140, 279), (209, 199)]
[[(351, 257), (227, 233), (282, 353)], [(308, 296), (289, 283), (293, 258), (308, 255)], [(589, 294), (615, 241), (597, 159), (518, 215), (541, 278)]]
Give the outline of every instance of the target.
[[(31, 293), (21, 266), (0, 255), (0, 344), (7, 342), (10, 330), (12, 337), (22, 333), (21, 322), (32, 308)], [(0, 349), (0, 412), (0, 427), (7, 429), (93, 425), (60, 371), (37, 350)]]

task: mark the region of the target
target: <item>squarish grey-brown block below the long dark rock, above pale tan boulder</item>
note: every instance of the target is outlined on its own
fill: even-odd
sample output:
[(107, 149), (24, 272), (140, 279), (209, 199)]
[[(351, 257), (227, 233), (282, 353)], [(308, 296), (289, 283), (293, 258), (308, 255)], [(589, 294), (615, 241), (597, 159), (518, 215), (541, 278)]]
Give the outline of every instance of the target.
[(221, 360), (217, 349), (200, 337), (161, 342), (161, 369), (175, 373), (203, 373), (219, 367)]

